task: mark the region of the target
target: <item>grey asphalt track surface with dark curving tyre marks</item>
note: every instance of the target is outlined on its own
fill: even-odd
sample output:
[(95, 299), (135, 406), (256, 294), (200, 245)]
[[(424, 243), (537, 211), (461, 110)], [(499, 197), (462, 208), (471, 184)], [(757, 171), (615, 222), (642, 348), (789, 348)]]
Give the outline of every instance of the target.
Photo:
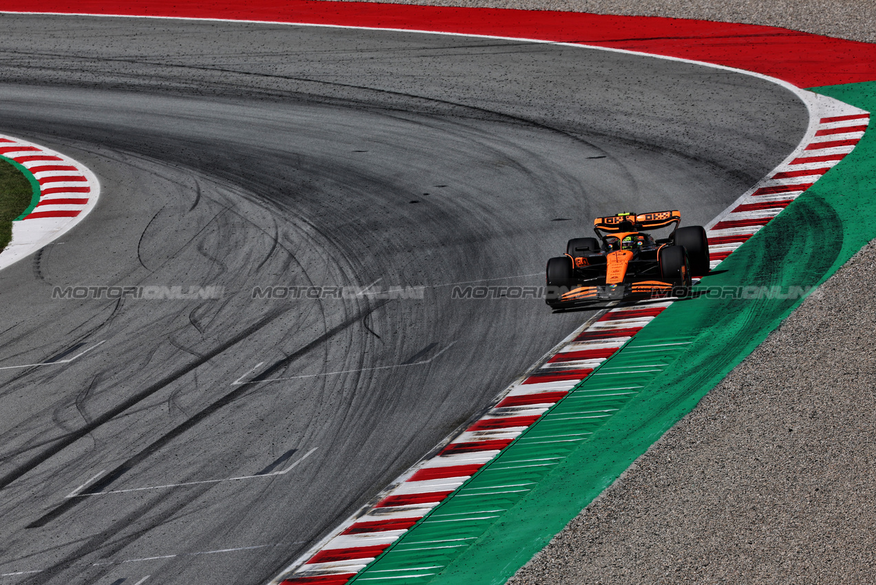
[[(0, 30), (0, 132), (102, 183), (85, 222), (0, 274), (0, 367), (102, 342), (0, 370), (0, 574), (39, 571), (4, 582), (268, 581), (588, 316), (454, 300), (454, 283), (539, 285), (595, 215), (707, 222), (807, 122), (768, 81), (568, 46), (81, 17)], [(423, 298), (251, 298), (371, 284)], [(224, 294), (52, 299), (73, 285)]]

